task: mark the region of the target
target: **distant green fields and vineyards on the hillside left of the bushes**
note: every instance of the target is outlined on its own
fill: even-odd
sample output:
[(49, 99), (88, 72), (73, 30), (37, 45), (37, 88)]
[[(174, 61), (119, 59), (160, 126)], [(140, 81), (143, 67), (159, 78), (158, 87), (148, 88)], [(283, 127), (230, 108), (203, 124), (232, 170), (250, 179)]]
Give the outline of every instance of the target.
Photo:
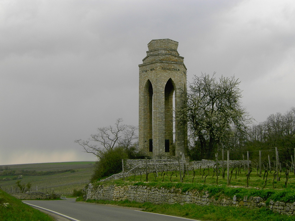
[[(0, 166), (0, 187), (6, 192), (18, 191), (16, 182), (31, 182), (30, 191), (71, 195), (90, 182), (95, 162), (61, 162)], [(19, 179), (21, 178), (21, 179)]]

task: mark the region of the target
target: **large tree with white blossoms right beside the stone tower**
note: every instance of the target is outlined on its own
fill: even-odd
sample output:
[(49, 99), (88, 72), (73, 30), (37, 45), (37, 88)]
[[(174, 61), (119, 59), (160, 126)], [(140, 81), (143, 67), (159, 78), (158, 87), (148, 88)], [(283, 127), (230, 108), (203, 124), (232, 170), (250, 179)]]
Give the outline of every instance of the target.
[(183, 93), (185, 105), (176, 114), (187, 124), (191, 144), (202, 159), (212, 158), (215, 149), (227, 143), (233, 128), (242, 134), (251, 122), (241, 105), (240, 81), (234, 76), (217, 80), (214, 75), (194, 76)]

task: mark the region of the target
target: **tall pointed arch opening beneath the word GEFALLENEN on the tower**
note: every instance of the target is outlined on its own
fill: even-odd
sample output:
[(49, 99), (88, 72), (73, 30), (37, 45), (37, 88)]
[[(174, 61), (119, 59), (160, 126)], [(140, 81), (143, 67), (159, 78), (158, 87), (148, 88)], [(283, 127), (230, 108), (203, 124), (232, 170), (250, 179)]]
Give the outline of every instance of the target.
[(173, 123), (173, 105), (175, 106), (175, 89), (173, 85), (171, 78), (165, 85), (165, 152), (171, 152), (174, 149), (173, 132), (175, 133), (175, 124)]

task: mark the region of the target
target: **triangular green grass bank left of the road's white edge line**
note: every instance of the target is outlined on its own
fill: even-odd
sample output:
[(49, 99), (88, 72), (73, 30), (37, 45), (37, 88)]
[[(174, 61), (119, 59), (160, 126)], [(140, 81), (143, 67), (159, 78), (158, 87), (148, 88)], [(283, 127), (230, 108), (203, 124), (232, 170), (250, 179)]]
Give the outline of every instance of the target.
[(0, 220), (53, 221), (54, 219), (0, 189)]

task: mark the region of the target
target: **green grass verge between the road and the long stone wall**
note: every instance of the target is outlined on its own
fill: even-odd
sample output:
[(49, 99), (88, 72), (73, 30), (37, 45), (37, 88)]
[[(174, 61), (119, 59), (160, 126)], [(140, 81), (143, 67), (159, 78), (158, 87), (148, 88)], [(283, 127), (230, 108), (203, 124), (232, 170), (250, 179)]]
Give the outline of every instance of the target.
[(215, 221), (294, 221), (294, 216), (280, 215), (271, 210), (248, 209), (245, 207), (220, 207), (199, 206), (196, 204), (152, 204), (150, 202), (139, 203), (135, 201), (109, 201), (109, 200), (87, 200), (86, 202), (113, 204), (124, 207), (143, 208), (145, 212), (154, 212), (172, 216), (186, 217), (198, 220)]

